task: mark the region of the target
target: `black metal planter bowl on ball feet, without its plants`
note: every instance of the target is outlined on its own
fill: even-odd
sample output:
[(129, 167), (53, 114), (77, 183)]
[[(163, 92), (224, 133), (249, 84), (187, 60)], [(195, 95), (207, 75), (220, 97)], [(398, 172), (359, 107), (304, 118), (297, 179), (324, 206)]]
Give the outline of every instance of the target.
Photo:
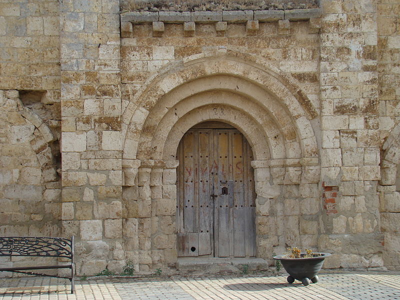
[[(304, 256), (306, 253), (300, 253)], [(294, 279), (302, 282), (303, 285), (308, 285), (310, 281), (315, 283), (318, 281), (316, 275), (322, 267), (323, 260), (329, 256), (330, 253), (316, 253), (320, 256), (315, 257), (301, 257), (301, 258), (288, 258), (286, 255), (276, 255), (273, 259), (280, 260), (286, 272), (289, 273), (287, 282), (293, 283)]]

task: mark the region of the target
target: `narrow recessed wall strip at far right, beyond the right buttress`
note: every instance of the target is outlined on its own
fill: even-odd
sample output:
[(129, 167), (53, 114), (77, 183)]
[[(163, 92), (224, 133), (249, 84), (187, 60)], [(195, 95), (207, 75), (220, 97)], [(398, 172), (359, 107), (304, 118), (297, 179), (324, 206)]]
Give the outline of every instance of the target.
[(398, 185), (400, 100), (400, 3), (377, 1), (379, 129), (382, 144), (381, 180), (378, 186), (381, 211), (381, 230), (384, 233), (383, 262), (387, 268), (400, 266), (400, 186)]

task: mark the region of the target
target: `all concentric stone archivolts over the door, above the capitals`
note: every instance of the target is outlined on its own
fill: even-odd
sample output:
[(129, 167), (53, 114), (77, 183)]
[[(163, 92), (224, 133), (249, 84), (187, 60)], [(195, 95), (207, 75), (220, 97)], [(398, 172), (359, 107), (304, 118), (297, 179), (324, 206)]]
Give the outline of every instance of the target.
[[(170, 159), (173, 150), (161, 141), (177, 139), (182, 130), (211, 119), (236, 126), (253, 147), (265, 140), (264, 150), (254, 151), (257, 159), (317, 157), (309, 122), (316, 111), (309, 99), (282, 72), (229, 54), (193, 55), (153, 76), (123, 114), (124, 158), (135, 159), (140, 143), (137, 158)], [(212, 95), (216, 90), (219, 96)], [(230, 115), (215, 116), (214, 108)], [(235, 114), (248, 124), (240, 124)], [(251, 128), (260, 131), (256, 138), (249, 134)]]

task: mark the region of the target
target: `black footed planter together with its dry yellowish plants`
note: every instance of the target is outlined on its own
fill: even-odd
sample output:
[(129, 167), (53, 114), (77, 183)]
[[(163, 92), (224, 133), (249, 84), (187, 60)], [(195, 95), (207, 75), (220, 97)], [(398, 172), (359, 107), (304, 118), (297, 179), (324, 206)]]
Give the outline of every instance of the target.
[(316, 275), (322, 267), (323, 260), (329, 256), (330, 253), (318, 253), (311, 250), (301, 250), (297, 247), (288, 248), (287, 252), (283, 255), (273, 256), (273, 259), (279, 260), (286, 272), (287, 282), (293, 283), (294, 279), (301, 281), (303, 285), (308, 285), (310, 282), (315, 283), (318, 281)]

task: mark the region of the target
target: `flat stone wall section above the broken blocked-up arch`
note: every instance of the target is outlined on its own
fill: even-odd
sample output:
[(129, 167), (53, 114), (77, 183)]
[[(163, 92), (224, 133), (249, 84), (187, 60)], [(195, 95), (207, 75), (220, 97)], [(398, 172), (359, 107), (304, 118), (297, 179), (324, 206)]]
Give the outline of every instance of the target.
[(2, 1), (0, 36), (0, 88), (59, 89), (57, 0)]

